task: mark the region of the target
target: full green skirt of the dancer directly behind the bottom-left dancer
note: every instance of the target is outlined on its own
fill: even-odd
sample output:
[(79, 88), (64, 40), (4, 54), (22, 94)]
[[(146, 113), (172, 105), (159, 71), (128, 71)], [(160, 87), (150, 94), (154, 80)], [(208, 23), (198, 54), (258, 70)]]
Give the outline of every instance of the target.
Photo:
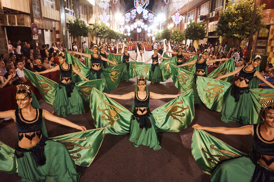
[(66, 117), (68, 114), (79, 115), (85, 113), (82, 96), (76, 87), (73, 88), (71, 97), (67, 97), (65, 86), (59, 86), (53, 101), (52, 109), (58, 114)]

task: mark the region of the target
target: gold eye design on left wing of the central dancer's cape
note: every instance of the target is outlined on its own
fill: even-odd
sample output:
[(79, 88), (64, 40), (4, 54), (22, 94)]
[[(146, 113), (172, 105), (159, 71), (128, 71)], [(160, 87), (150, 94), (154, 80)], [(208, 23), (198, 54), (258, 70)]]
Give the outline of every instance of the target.
[[(106, 102), (107, 100), (104, 100), (104, 103), (108, 106), (110, 106), (111, 108), (106, 108), (106, 109), (100, 109), (99, 106), (97, 107), (97, 109), (99, 111), (102, 111), (104, 113), (104, 115), (102, 115), (102, 119), (103, 120), (107, 120), (107, 121), (111, 121), (108, 122), (104, 127), (106, 127), (107, 125), (112, 125), (114, 122), (116, 122), (117, 120), (119, 120), (121, 117), (118, 114), (118, 112), (120, 113), (121, 110), (119, 108), (117, 108), (116, 106), (109, 104)], [(115, 110), (114, 110), (115, 109)], [(109, 114), (107, 114), (107, 112), (109, 112)], [(115, 116), (117, 116), (117, 118), (114, 118)]]

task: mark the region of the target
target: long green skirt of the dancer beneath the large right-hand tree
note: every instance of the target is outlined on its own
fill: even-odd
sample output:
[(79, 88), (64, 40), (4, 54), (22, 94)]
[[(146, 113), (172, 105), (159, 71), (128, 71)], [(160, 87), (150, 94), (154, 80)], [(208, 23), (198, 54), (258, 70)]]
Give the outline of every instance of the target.
[(230, 88), (227, 90), (227, 98), (224, 101), (224, 105), (220, 112), (222, 115), (221, 120), (226, 123), (229, 123), (231, 121), (238, 121), (242, 124), (250, 123), (250, 92), (243, 92), (242, 94), (240, 94), (239, 101), (235, 102), (235, 98), (230, 94), (231, 89), (232, 86), (230, 86)]

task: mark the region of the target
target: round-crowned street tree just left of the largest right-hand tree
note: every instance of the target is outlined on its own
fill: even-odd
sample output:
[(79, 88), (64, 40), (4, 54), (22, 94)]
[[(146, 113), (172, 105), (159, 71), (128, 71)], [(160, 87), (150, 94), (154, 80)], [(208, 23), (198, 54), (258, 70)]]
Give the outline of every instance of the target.
[(205, 23), (191, 21), (185, 29), (185, 38), (192, 40), (202, 40), (206, 36)]

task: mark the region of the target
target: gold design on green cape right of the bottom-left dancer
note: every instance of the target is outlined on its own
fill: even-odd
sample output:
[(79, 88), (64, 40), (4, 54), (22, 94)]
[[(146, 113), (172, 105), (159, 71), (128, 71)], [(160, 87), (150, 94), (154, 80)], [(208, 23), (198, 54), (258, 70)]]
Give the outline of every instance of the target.
[[(86, 136), (84, 136), (83, 139), (80, 139), (80, 138), (69, 138), (69, 139), (64, 139), (64, 140), (57, 140), (57, 142), (72, 141), (72, 140), (73, 140), (73, 141), (85, 141), (85, 140), (86, 140)], [(87, 147), (85, 147), (85, 146), (81, 146), (80, 144), (74, 143), (74, 142), (65, 142), (65, 143), (63, 143), (63, 144), (68, 148), (68, 152), (69, 152), (70, 154), (77, 153), (77, 154), (76, 154), (77, 156), (72, 156), (72, 155), (71, 155), (71, 158), (72, 158), (72, 159), (79, 159), (79, 158), (81, 158), (81, 154), (79, 154), (78, 152), (80, 152), (80, 151), (83, 150), (83, 149), (90, 149), (90, 148), (91, 148), (90, 145), (87, 146)], [(78, 146), (78, 147), (80, 147), (80, 148), (79, 148), (79, 149), (76, 149), (76, 150), (74, 150), (74, 151), (71, 151), (71, 150), (74, 149), (75, 146)]]

